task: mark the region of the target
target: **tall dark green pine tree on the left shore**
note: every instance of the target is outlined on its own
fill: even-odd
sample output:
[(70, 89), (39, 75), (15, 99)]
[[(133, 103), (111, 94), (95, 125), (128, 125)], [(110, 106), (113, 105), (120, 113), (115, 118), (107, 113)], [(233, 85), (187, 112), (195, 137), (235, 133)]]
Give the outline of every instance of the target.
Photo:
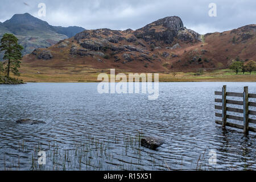
[(19, 76), (18, 68), (20, 67), (20, 61), (22, 59), (23, 47), (18, 44), (18, 39), (13, 34), (5, 34), (1, 39), (0, 51), (5, 51), (3, 60), (7, 60), (6, 76), (10, 76), (10, 72)]

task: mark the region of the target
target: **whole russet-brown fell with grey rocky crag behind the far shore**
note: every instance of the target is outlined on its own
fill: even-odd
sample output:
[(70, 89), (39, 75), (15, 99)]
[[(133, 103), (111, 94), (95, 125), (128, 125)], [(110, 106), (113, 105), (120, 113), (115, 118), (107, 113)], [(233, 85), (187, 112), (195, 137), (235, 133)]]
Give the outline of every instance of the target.
[[(172, 72), (227, 68), (232, 60), (256, 59), (256, 25), (200, 35), (178, 16), (156, 20), (138, 30), (84, 30), (23, 58), (31, 72), (82, 74), (85, 69)], [(28, 70), (28, 69), (26, 69)]]

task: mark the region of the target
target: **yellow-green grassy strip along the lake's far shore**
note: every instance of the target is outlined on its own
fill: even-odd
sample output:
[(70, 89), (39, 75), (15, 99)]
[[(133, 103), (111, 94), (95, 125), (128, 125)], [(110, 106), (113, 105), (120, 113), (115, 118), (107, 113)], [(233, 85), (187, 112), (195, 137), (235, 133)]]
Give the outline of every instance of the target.
[[(107, 73), (110, 78), (109, 69), (89, 69), (79, 73), (24, 72), (18, 78), (24, 82), (100, 82), (97, 80), (100, 73)], [(115, 74), (118, 73), (125, 73), (128, 76), (130, 72), (116, 71)], [(152, 77), (154, 78), (154, 73)], [(159, 82), (256, 82), (256, 72), (254, 71), (251, 75), (249, 73), (236, 75), (230, 69), (218, 69), (203, 73), (176, 72), (175, 76), (173, 72), (164, 72), (159, 73)]]

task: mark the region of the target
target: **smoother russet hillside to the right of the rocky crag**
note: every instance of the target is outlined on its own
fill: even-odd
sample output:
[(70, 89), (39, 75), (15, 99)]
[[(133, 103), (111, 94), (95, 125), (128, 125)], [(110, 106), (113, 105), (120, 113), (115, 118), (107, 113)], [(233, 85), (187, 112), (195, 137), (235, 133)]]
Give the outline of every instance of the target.
[[(193, 45), (173, 62), (172, 69), (228, 68), (232, 60), (256, 60), (256, 24), (202, 36), (201, 45)], [(169, 67), (170, 68), (170, 67)]]

